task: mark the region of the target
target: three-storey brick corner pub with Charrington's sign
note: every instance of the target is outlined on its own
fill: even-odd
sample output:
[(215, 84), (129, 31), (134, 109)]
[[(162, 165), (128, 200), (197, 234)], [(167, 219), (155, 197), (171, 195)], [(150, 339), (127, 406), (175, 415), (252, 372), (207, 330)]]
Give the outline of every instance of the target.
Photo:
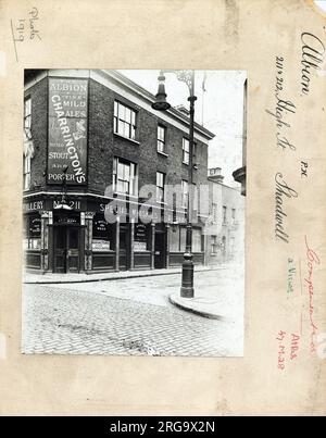
[[(149, 184), (156, 190), (156, 218), (163, 217), (165, 185), (180, 185), (187, 205), (189, 117), (173, 108), (158, 113), (153, 101), (153, 95), (116, 71), (25, 71), (23, 239), (28, 271), (91, 274), (180, 265), (186, 224), (178, 221), (179, 211), (167, 205), (164, 222), (149, 224), (130, 214), (139, 212), (143, 199), (138, 190)], [(195, 124), (196, 186), (206, 184), (213, 137)], [(112, 199), (116, 221), (109, 223), (105, 209)], [(203, 227), (199, 216), (192, 252), (200, 264), (205, 263)]]

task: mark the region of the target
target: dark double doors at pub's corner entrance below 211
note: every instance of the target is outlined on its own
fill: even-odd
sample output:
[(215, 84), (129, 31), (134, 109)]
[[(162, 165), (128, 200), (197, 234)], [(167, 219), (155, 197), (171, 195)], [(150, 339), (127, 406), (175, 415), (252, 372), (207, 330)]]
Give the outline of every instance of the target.
[(54, 272), (79, 272), (79, 227), (54, 227)]

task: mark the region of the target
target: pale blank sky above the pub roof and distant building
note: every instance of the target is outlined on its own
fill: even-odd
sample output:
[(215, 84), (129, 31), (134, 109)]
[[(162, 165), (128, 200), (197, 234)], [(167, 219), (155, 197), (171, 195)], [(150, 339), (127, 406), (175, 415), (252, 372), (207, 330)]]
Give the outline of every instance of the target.
[[(122, 74), (155, 95), (159, 71), (121, 70)], [(215, 134), (209, 146), (209, 168), (222, 167), (224, 184), (239, 187), (233, 172), (242, 166), (242, 116), (244, 71), (208, 71), (195, 73), (195, 120)], [(188, 87), (174, 73), (165, 74), (166, 100), (173, 105), (189, 108)]]

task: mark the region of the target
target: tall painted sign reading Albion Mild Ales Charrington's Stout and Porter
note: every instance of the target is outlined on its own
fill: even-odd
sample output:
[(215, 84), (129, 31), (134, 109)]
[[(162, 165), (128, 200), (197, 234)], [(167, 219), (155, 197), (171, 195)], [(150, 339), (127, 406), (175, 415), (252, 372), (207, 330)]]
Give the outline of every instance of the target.
[(88, 80), (49, 78), (48, 184), (87, 183)]

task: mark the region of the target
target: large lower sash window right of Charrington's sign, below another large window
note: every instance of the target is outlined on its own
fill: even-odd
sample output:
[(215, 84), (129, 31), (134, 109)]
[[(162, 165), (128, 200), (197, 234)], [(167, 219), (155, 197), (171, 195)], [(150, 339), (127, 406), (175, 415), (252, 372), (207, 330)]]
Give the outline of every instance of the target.
[(120, 158), (114, 158), (113, 187), (118, 193), (137, 193), (137, 165)]

